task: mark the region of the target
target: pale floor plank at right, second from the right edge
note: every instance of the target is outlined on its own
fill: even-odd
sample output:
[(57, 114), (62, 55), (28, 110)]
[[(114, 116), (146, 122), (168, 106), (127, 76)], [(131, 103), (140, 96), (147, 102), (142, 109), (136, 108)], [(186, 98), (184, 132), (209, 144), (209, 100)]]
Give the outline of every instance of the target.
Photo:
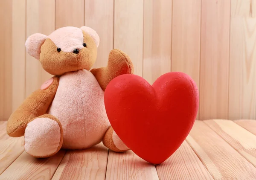
[(254, 134), (230, 120), (218, 119), (204, 122), (256, 167), (256, 136)]

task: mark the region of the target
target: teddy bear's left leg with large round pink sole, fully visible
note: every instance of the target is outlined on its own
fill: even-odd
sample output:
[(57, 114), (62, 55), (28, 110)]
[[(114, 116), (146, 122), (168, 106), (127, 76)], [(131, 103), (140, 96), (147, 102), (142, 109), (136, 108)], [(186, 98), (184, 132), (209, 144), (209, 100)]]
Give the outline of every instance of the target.
[(44, 114), (26, 126), (24, 149), (33, 157), (45, 158), (56, 154), (63, 143), (63, 129), (57, 118)]

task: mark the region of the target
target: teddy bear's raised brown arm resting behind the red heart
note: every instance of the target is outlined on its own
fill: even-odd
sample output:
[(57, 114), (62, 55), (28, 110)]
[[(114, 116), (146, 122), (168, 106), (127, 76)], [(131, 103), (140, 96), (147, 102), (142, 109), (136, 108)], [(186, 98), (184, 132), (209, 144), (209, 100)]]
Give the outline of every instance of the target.
[(108, 83), (122, 74), (132, 74), (134, 66), (128, 55), (119, 49), (113, 49), (108, 56), (107, 67), (92, 69), (91, 73), (96, 77), (102, 90), (105, 91)]

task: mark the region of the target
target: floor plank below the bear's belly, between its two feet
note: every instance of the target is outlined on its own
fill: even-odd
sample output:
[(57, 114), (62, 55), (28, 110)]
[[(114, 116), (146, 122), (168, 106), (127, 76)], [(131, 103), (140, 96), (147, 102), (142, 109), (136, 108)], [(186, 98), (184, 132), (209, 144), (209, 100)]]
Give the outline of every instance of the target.
[(108, 148), (102, 143), (87, 150), (67, 151), (52, 180), (104, 180)]

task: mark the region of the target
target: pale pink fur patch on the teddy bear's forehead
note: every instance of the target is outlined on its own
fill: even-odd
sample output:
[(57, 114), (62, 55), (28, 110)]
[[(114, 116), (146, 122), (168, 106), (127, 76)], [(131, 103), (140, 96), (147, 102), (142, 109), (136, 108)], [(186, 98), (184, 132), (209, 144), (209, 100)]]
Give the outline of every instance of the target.
[(76, 27), (63, 27), (56, 29), (49, 35), (52, 42), (64, 52), (73, 52), (74, 49), (82, 49), (84, 35), (81, 29)]

